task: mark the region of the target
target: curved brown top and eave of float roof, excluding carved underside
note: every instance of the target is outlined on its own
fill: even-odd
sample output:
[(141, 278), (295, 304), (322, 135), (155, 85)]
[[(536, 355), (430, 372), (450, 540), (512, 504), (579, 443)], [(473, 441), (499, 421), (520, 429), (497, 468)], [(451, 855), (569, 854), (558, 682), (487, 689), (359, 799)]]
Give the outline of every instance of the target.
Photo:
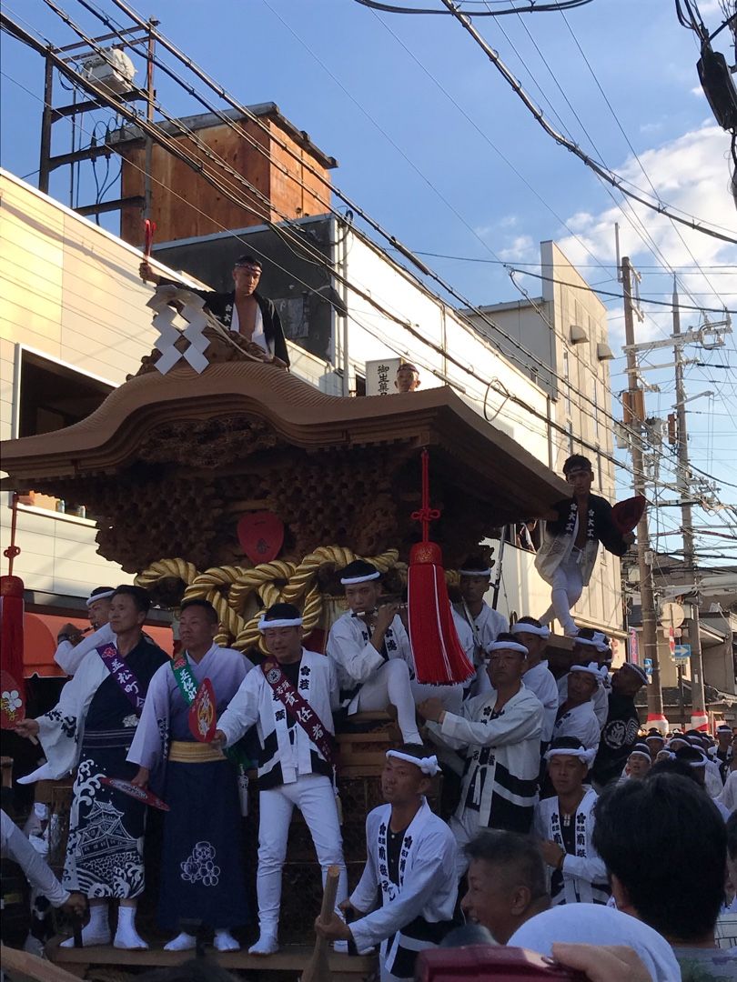
[[(232, 454), (218, 428), (232, 433)], [(565, 495), (546, 466), (449, 388), (346, 399), (245, 361), (212, 364), (200, 375), (184, 366), (164, 376), (152, 371), (131, 378), (73, 426), (5, 441), (3, 468), (10, 478), (3, 486), (42, 490), (47, 480), (111, 474), (142, 459), (164, 463), (167, 453), (172, 461), (196, 463), (198, 432), (200, 442), (220, 440), (222, 465), (232, 463), (229, 456), (243, 461), (249, 449), (276, 443), (337, 453), (391, 444), (435, 448), (459, 468), (459, 481), (473, 484), (476, 496), (508, 518), (539, 514)]]

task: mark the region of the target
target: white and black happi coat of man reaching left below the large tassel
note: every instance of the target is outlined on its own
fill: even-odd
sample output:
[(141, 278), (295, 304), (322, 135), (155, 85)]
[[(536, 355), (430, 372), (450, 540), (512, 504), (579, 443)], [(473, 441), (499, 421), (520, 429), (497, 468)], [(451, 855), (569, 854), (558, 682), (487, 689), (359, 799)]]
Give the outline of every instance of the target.
[(494, 827), (497, 807), (512, 819), (515, 813), (524, 816), (538, 796), (542, 704), (523, 682), (499, 716), (492, 719), (496, 699), (492, 688), (465, 702), (461, 715), (446, 712), (442, 724), (428, 724), (432, 733), (449, 746), (469, 748), (456, 815), (463, 815), (472, 791), (482, 827)]

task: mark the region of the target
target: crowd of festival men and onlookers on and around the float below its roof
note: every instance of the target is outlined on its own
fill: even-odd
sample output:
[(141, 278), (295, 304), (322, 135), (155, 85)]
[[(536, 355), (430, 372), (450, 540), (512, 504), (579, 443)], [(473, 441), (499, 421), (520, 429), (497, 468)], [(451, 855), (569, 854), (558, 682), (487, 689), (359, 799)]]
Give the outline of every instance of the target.
[[(583, 550), (587, 535), (604, 534), (597, 520)], [(566, 576), (579, 549), (575, 517), (569, 531)], [(300, 610), (276, 603), (258, 625), (267, 655), (256, 664), (215, 644), (218, 617), (205, 600), (182, 603), (181, 650), (170, 659), (143, 631), (145, 590), (93, 590), (93, 631), (68, 625), (60, 635), (57, 658), (72, 678), (58, 704), (17, 728), (45, 758), (26, 780), (74, 774), (62, 882), (43, 882), (54, 903), (88, 904), (82, 944), (147, 947), (136, 909), (150, 791), (169, 806), (158, 903), (165, 948), (194, 950), (193, 921), (212, 930), (217, 951), (240, 947), (236, 935), (253, 918), (234, 830), (255, 766), (252, 955), (279, 950), (297, 807), (323, 882), (330, 867), (339, 871), (335, 910), (315, 930), (339, 952), (378, 948), (382, 980), (412, 979), (422, 956), (466, 943), (472, 927), (477, 940), (482, 932), (489, 944), (571, 967), (586, 967), (587, 950), (570, 943), (625, 946), (586, 969), (595, 982), (737, 978), (731, 728), (715, 738), (643, 733), (635, 697), (648, 677), (634, 662), (612, 672), (601, 631), (567, 625), (570, 641), (555, 643), (544, 618), (510, 626), (484, 599), (491, 569), (482, 556), (459, 574), (453, 622), (474, 673), (444, 685), (418, 678), (407, 611), (382, 597), (381, 574), (365, 560), (340, 572), (347, 610), (324, 653), (305, 648)], [(555, 586), (554, 598), (569, 598), (567, 588)], [(212, 719), (199, 726), (202, 693)], [(396, 716), (402, 742), (386, 753), (385, 803), (367, 816), (368, 858), (349, 893), (334, 735), (376, 710)], [(443, 817), (428, 805), (440, 772)], [(15, 838), (4, 818), (4, 849)]]

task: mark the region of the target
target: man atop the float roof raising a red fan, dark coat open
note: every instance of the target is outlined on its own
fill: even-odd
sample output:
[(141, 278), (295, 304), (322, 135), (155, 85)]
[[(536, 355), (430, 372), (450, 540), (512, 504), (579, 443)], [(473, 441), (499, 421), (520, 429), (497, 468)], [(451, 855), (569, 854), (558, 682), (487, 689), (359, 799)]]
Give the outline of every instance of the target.
[[(174, 280), (167, 280), (154, 273), (147, 259), (143, 259), (139, 272), (144, 282), (155, 286), (182, 286)], [(186, 289), (197, 294), (204, 300), (207, 309), (221, 323), (240, 334), (248, 342), (250, 355), (259, 357), (262, 361), (282, 362), (289, 367), (289, 353), (284, 339), (279, 314), (273, 300), (261, 297), (256, 292), (261, 278), (261, 263), (253, 255), (241, 255), (233, 267), (233, 282), (235, 290), (230, 293), (217, 293), (214, 290)]]

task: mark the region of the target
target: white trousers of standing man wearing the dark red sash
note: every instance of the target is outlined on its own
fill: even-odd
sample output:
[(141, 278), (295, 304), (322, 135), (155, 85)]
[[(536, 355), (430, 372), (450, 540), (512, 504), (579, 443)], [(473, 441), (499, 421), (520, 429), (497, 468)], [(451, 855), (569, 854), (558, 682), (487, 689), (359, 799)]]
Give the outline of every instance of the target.
[(332, 782), (322, 774), (306, 774), (288, 785), (260, 791), (258, 795), (258, 872), (255, 877), (258, 897), (258, 923), (261, 934), (276, 937), (281, 902), (281, 871), (287, 854), (289, 823), (295, 805), (308, 824), (317, 861), (322, 867), (322, 885), (328, 866), (340, 868), (337, 906), (348, 897), (343, 838), (338, 822), (338, 808)]

